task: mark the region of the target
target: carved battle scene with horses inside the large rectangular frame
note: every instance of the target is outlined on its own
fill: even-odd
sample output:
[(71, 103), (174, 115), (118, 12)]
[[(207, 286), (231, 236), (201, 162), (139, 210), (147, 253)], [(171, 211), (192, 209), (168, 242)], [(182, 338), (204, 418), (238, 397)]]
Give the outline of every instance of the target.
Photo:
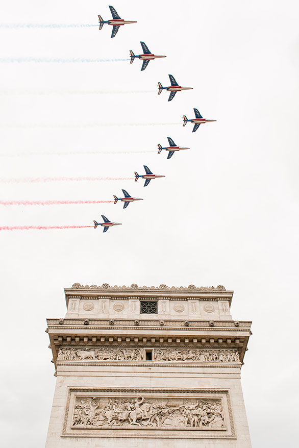
[(219, 398), (76, 396), (71, 429), (225, 430)]

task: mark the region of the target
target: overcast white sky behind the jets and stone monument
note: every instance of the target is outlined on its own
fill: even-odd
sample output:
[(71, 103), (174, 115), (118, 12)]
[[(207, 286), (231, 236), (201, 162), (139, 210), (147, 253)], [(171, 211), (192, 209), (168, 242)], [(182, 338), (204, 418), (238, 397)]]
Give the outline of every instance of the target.
[[(108, 3), (19, 0), (6, 2), (0, 16), (2, 24), (96, 24), (97, 14), (110, 17)], [(295, 447), (298, 4), (112, 4), (124, 19), (138, 21), (114, 39), (108, 26), (101, 32), (0, 27), (2, 180), (130, 178), (143, 164), (166, 176), (146, 188), (140, 180), (0, 182), (2, 201), (110, 200), (121, 188), (144, 198), (126, 210), (119, 203), (0, 206), (0, 226), (90, 225), (101, 214), (123, 223), (106, 234), (0, 232), (3, 446), (44, 445), (56, 381), (45, 319), (65, 314), (64, 287), (107, 282), (233, 289), (233, 317), (253, 320), (242, 368), (253, 446)], [(123, 59), (129, 49), (141, 53), (140, 40), (167, 58), (144, 72), (138, 60), (3, 62)], [(194, 89), (168, 103), (168, 93), (157, 95), (158, 81), (169, 85), (168, 73)], [(193, 107), (217, 122), (192, 134), (182, 115), (191, 118)], [(170, 160), (158, 156), (157, 143), (165, 146), (168, 136), (190, 150)]]

